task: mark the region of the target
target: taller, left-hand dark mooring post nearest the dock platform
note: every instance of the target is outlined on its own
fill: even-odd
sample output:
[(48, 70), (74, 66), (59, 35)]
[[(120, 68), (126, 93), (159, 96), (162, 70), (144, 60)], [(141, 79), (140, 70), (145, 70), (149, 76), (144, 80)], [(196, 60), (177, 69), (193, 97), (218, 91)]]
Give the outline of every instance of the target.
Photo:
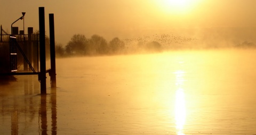
[(45, 58), (45, 18), (44, 7), (39, 7), (39, 52), (40, 52), (40, 73), (41, 94), (46, 94), (46, 58)]

